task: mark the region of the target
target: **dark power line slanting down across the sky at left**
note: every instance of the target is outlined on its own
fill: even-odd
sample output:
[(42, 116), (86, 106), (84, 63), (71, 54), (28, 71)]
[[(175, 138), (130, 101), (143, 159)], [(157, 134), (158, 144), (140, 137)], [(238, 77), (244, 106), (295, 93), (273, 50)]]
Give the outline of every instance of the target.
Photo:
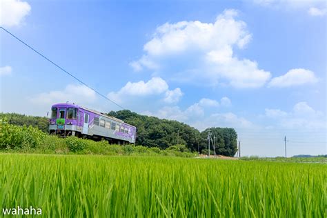
[(114, 103), (116, 106), (118, 106), (119, 108), (123, 109), (124, 108), (122, 106), (120, 106), (118, 103), (116, 103), (115, 101), (112, 101), (110, 99), (108, 99), (108, 97), (106, 97), (106, 95), (101, 94), (100, 92), (98, 92), (97, 90), (95, 90), (94, 88), (88, 86), (88, 84), (84, 83), (83, 81), (81, 81), (81, 79), (78, 79), (77, 77), (75, 77), (74, 75), (72, 75), (70, 72), (68, 72), (67, 70), (61, 68), (61, 66), (59, 66), (57, 63), (54, 63), (53, 61), (51, 61), (50, 59), (48, 59), (48, 57), (44, 56), (43, 54), (41, 54), (41, 52), (38, 52), (37, 50), (35, 50), (34, 48), (32, 48), (31, 46), (28, 45), (28, 43), (24, 42), (23, 40), (19, 39), (18, 37), (16, 37), (14, 34), (12, 34), (11, 32), (9, 32), (8, 30), (6, 30), (5, 28), (3, 28), (2, 26), (0, 26), (1, 29), (3, 29), (5, 32), (7, 32), (8, 34), (10, 34), (12, 37), (14, 37), (15, 39), (17, 39), (18, 41), (20, 41), (21, 43), (23, 43), (25, 46), (27, 46), (28, 48), (30, 48), (31, 50), (33, 50), (34, 52), (36, 52), (37, 54), (39, 54), (41, 57), (43, 57), (43, 59), (46, 59), (47, 61), (49, 61), (50, 63), (52, 63), (54, 66), (56, 66), (57, 68), (59, 68), (60, 70), (62, 70), (63, 72), (66, 72), (66, 74), (70, 75), (70, 77), (76, 79), (77, 81), (79, 81), (80, 83), (82, 83), (84, 86), (90, 88), (90, 90), (95, 91), (98, 95), (100, 95), (101, 97), (103, 97), (104, 99), (107, 99), (108, 101), (110, 101), (111, 103)]

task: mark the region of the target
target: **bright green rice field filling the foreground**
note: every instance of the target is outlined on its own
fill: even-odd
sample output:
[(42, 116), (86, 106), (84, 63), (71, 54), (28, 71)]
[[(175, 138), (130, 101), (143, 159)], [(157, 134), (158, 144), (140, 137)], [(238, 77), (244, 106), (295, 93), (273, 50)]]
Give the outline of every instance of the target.
[(326, 169), (266, 161), (0, 154), (0, 207), (42, 208), (44, 217), (326, 217)]

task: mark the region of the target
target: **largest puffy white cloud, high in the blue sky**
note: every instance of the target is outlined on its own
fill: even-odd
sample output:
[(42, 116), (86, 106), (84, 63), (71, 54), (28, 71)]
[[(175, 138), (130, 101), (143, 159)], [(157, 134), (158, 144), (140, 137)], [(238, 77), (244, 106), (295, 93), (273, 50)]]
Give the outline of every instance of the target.
[(165, 23), (144, 45), (143, 57), (130, 66), (136, 71), (161, 69), (178, 81), (204, 81), (212, 86), (226, 81), (236, 88), (263, 86), (270, 72), (259, 69), (255, 61), (233, 55), (233, 48), (245, 48), (251, 39), (246, 23), (235, 17), (236, 10), (225, 10), (214, 23)]

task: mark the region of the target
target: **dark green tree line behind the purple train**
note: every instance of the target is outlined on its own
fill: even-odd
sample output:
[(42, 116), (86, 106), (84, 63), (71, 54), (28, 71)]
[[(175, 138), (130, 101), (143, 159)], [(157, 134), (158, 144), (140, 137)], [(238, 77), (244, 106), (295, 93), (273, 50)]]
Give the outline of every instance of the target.
[[(208, 154), (208, 130), (210, 129), (212, 136), (215, 135), (217, 155), (234, 156), (237, 152), (237, 132), (234, 128), (207, 128), (200, 132), (186, 123), (139, 115), (130, 110), (110, 111), (108, 115), (137, 128), (136, 146), (166, 149), (175, 145), (185, 145), (192, 152)], [(10, 124), (35, 126), (43, 132), (48, 132), (49, 122), (46, 117), (0, 113), (0, 119), (3, 117), (6, 117)]]

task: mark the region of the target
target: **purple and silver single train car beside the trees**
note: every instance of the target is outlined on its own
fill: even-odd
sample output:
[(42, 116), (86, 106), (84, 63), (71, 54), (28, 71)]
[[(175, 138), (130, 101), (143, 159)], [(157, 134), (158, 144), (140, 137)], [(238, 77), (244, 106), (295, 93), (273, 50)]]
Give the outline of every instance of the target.
[(75, 103), (54, 104), (49, 122), (50, 135), (106, 139), (109, 143), (135, 143), (135, 126)]

